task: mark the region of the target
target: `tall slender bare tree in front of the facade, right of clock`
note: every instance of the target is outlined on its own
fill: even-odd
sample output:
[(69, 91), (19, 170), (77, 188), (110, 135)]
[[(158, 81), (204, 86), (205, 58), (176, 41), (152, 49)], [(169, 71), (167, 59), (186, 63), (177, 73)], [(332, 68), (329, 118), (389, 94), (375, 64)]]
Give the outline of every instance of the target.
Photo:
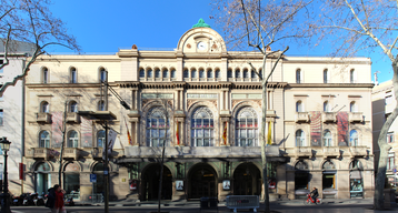
[[(298, 24), (301, 9), (311, 1), (261, 1), (261, 0), (219, 0), (216, 1), (216, 22), (222, 27), (225, 39), (232, 49), (253, 49), (262, 54), (261, 73), (256, 71), (250, 60), (247, 62), (259, 77), (262, 85), (262, 128), (260, 131), (262, 183), (265, 184), (265, 212), (270, 212), (266, 155), (266, 123), (267, 123), (267, 87), (278, 62), (288, 51), (271, 51), (272, 44), (281, 41), (307, 37), (305, 24)], [(304, 23), (304, 22), (301, 22)], [(266, 63), (272, 63), (271, 70), (266, 70)]]

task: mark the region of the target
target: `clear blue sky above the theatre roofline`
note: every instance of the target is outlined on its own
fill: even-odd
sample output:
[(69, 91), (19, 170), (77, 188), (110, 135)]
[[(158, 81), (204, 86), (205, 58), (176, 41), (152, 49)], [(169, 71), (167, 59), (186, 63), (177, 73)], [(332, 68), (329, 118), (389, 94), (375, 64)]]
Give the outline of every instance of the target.
[[(52, 13), (76, 36), (83, 53), (113, 54), (119, 48), (173, 49), (180, 37), (202, 18), (220, 34), (211, 16), (210, 0), (58, 0)], [(327, 55), (329, 48), (295, 48), (289, 55)], [(67, 53), (68, 49), (52, 51)], [(380, 71), (379, 82), (392, 78), (391, 62), (378, 51), (371, 54), (371, 72)], [(372, 75), (374, 79), (374, 75)]]

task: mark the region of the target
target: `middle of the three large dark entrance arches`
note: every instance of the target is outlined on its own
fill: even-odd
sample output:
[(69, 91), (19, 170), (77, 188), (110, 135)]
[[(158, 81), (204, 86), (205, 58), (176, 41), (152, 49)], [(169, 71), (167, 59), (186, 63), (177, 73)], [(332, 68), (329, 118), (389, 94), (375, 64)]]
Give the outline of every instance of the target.
[(217, 173), (210, 165), (199, 164), (192, 168), (189, 180), (189, 199), (217, 196)]

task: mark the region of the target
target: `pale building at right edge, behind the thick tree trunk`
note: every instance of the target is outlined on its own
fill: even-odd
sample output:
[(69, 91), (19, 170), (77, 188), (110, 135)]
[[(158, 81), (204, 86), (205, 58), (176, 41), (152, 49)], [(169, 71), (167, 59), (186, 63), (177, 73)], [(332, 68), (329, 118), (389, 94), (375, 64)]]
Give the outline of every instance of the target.
[[(372, 90), (372, 132), (374, 132), (374, 148), (375, 148), (375, 168), (378, 168), (379, 160), (379, 145), (377, 143), (380, 130), (382, 124), (387, 120), (387, 118), (392, 113), (395, 106), (397, 105), (397, 101), (394, 94), (394, 85), (392, 80), (382, 82), (376, 85)], [(398, 139), (396, 136), (396, 132), (398, 132), (398, 121), (394, 121), (390, 129), (387, 133), (387, 143), (391, 146), (388, 151), (387, 156), (387, 183), (391, 186), (396, 186), (398, 184), (398, 173), (397, 165), (398, 162)], [(377, 172), (377, 171), (376, 171)]]

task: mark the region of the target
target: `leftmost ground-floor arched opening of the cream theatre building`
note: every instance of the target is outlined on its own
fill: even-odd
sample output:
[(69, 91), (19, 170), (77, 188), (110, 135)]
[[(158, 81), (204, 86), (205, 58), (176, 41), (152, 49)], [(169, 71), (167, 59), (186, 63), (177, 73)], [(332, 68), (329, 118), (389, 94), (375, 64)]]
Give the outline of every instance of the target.
[(47, 194), (51, 187), (50, 165), (47, 162), (39, 163), (36, 168), (36, 192), (39, 194)]

